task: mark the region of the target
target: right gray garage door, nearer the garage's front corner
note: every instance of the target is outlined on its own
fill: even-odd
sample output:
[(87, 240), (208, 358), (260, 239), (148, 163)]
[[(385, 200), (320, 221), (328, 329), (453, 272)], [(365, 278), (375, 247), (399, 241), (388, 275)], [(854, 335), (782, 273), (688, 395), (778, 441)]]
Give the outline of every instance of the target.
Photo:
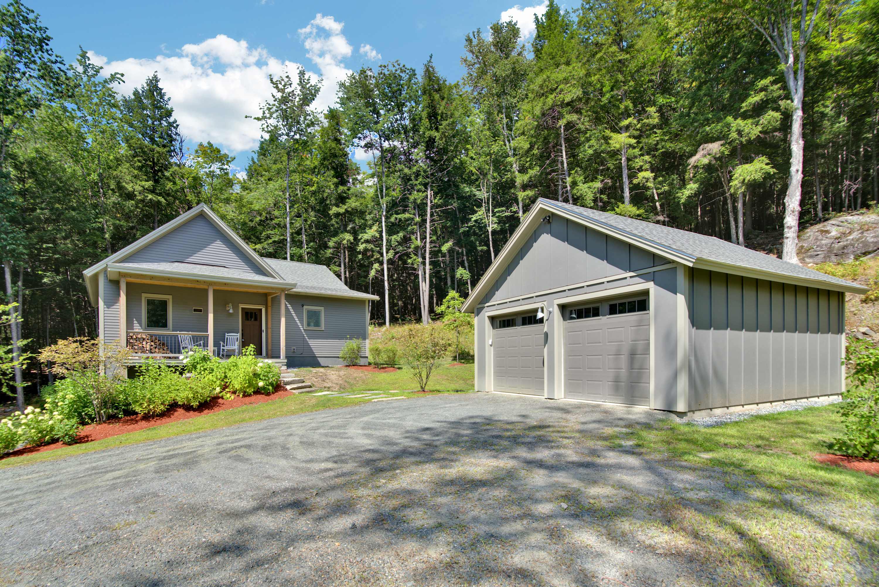
[(646, 297), (564, 308), (564, 396), (650, 405)]

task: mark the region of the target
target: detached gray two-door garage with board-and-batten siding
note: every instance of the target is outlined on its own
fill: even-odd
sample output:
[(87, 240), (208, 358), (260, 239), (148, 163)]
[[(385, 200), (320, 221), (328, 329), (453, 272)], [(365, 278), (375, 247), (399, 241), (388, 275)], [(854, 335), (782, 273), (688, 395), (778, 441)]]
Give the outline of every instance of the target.
[(476, 389), (694, 413), (839, 395), (845, 293), (712, 236), (540, 199), (464, 305)]

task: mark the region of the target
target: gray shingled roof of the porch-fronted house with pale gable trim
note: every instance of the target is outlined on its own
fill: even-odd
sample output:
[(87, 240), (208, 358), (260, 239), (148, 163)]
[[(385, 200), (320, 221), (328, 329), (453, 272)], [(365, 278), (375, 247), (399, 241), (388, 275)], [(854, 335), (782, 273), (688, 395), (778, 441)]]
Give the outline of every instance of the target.
[[(265, 275), (258, 275), (251, 272), (236, 270), (229, 267), (221, 267), (215, 265), (200, 265), (199, 263), (189, 263), (183, 261), (170, 261), (164, 263), (144, 263), (144, 262), (126, 262), (125, 259), (134, 255), (139, 250), (143, 250), (149, 244), (156, 243), (160, 238), (168, 235), (176, 228), (183, 226), (186, 222), (192, 221), (194, 218), (204, 216), (216, 227), (224, 236), (229, 238), (237, 249), (250, 258), (258, 268), (265, 272)], [(296, 269), (287, 265), (304, 265), (313, 269)], [(281, 269), (283, 268), (283, 269)], [(308, 263), (294, 263), (290, 261), (279, 261), (278, 259), (269, 259), (259, 257), (247, 243), (244, 243), (240, 236), (237, 236), (229, 226), (220, 220), (220, 217), (214, 214), (205, 204), (199, 204), (192, 210), (180, 214), (174, 220), (163, 224), (156, 228), (148, 235), (134, 241), (124, 249), (120, 249), (113, 253), (110, 257), (106, 257), (98, 261), (95, 265), (91, 265), (83, 272), (85, 277), (85, 287), (88, 290), (89, 299), (93, 306), (98, 305), (98, 279), (104, 270), (117, 274), (126, 270), (134, 270), (149, 275), (165, 276), (165, 277), (183, 277), (192, 279), (210, 279), (219, 278), (222, 281), (233, 283), (251, 283), (266, 284), (279, 287), (286, 287), (297, 293), (330, 295), (333, 297), (345, 297), (367, 300), (378, 300), (377, 296), (370, 294), (361, 294), (352, 289), (348, 289), (341, 281), (332, 274), (328, 267), (323, 265), (311, 265)], [(302, 276), (304, 279), (297, 279)], [(329, 276), (329, 277), (328, 277)], [(300, 290), (299, 287), (305, 289)]]

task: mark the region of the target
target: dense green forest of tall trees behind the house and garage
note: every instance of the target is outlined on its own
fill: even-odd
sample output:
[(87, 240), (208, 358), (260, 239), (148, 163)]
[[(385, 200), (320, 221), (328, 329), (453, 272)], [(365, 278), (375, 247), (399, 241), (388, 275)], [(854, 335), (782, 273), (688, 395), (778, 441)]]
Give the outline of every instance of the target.
[(82, 271), (200, 203), (259, 255), (379, 295), (385, 323), (466, 297), (541, 197), (742, 246), (784, 229), (788, 259), (798, 228), (879, 202), (879, 1), (550, 2), (535, 24), (475, 28), (461, 79), (431, 55), (355, 71), (323, 112), (320, 79), (273, 78), (233, 174), (157, 76), (65, 62), (0, 7), (3, 352), (94, 336)]

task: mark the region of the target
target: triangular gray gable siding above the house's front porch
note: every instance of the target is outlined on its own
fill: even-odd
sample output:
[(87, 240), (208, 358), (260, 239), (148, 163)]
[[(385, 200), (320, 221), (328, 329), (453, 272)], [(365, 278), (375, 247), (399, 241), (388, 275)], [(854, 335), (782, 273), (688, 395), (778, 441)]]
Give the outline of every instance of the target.
[(243, 250), (202, 214), (125, 258), (126, 263), (181, 261), (222, 265), (229, 269), (267, 277), (253, 259), (245, 255)]

